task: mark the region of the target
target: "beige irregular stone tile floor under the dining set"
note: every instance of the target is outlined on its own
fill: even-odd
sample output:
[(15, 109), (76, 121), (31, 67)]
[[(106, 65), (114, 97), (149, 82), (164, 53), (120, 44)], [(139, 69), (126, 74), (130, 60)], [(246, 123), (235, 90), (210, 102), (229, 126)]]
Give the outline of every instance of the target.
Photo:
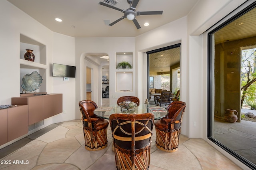
[[(232, 161), (203, 139), (180, 136), (177, 152), (168, 153), (155, 146), (152, 136), (150, 170), (239, 170)], [(84, 148), (80, 120), (52, 124), (0, 150), (3, 170), (115, 170), (112, 136), (103, 150)], [(18, 161), (18, 162), (17, 162)], [(10, 163), (10, 164), (7, 164)]]

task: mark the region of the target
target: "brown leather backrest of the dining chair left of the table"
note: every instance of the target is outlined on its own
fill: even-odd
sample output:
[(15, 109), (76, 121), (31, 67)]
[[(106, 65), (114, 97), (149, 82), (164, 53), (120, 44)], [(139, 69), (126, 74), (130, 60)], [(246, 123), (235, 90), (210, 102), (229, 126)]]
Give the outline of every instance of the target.
[(91, 100), (80, 101), (79, 107), (80, 107), (82, 117), (84, 119), (89, 119), (89, 117), (96, 117), (93, 111), (97, 109), (98, 106), (94, 101), (91, 101)]

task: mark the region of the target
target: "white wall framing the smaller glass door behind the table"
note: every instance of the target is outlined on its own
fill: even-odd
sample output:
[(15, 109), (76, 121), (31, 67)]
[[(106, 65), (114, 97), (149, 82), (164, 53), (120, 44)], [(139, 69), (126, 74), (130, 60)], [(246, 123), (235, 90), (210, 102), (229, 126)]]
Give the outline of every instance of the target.
[[(181, 42), (181, 59), (180, 59), (180, 99), (186, 102), (186, 111), (182, 123), (182, 134), (189, 136), (189, 119), (188, 119), (188, 54), (187, 54), (187, 19), (186, 17), (180, 18), (174, 22), (166, 24), (160, 28), (142, 34), (136, 37), (136, 50), (140, 52), (150, 51), (160, 47), (166, 47)], [(137, 57), (138, 58), (138, 57)], [(147, 62), (147, 58), (144, 57), (144, 63)], [(138, 72), (144, 73), (144, 77), (147, 77), (146, 67), (138, 67)], [(138, 81), (138, 86), (147, 87), (147, 80), (143, 82)], [(138, 92), (139, 96), (146, 99), (148, 91), (146, 88), (143, 91)]]

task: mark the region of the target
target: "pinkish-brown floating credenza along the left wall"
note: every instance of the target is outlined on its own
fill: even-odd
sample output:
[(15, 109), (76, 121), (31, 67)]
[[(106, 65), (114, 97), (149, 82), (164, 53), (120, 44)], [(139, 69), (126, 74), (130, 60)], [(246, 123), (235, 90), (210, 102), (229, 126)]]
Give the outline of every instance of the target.
[(29, 125), (62, 113), (62, 94), (34, 94), (12, 97), (17, 107), (0, 109), (0, 145), (27, 134)]

